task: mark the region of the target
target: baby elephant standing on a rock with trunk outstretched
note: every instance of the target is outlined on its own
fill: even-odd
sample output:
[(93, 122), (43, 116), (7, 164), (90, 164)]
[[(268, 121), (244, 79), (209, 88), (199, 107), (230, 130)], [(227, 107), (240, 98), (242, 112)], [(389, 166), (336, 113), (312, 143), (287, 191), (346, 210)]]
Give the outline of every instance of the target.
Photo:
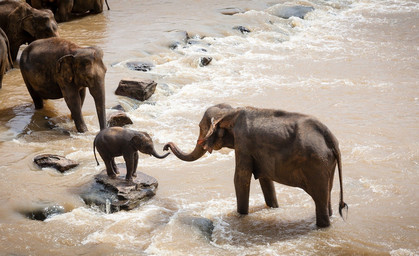
[(108, 176), (113, 179), (119, 173), (114, 158), (117, 156), (124, 157), (127, 166), (127, 175), (125, 176), (127, 181), (132, 181), (132, 177), (137, 176), (135, 172), (138, 165), (138, 150), (141, 153), (153, 155), (160, 159), (169, 155), (169, 153), (162, 156), (157, 154), (153, 141), (146, 132), (138, 132), (122, 127), (106, 128), (96, 135), (93, 142), (93, 153), (99, 165), (95, 147), (97, 147), (97, 151), (105, 162)]

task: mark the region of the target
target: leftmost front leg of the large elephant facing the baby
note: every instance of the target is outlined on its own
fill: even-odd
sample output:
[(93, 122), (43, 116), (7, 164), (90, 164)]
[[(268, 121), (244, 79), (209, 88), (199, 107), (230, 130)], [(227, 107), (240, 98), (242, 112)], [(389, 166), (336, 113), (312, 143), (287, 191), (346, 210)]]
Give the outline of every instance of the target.
[(236, 151), (236, 171), (234, 173), (234, 188), (236, 190), (237, 212), (249, 213), (250, 180), (252, 178), (252, 160)]

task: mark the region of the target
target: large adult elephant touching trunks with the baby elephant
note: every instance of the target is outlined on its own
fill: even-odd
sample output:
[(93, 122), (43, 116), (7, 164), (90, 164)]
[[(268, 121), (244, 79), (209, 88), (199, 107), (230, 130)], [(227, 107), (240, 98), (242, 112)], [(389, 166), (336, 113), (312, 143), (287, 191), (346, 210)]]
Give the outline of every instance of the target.
[(207, 151), (235, 150), (234, 185), (237, 211), (247, 214), (252, 174), (259, 179), (265, 202), (278, 207), (273, 181), (300, 187), (314, 200), (316, 224), (330, 225), (331, 191), (336, 164), (339, 170), (339, 213), (343, 202), (342, 166), (338, 141), (313, 117), (281, 110), (232, 108), (219, 104), (207, 109), (199, 123), (195, 149), (186, 154), (173, 142), (164, 146), (181, 160), (195, 161)]

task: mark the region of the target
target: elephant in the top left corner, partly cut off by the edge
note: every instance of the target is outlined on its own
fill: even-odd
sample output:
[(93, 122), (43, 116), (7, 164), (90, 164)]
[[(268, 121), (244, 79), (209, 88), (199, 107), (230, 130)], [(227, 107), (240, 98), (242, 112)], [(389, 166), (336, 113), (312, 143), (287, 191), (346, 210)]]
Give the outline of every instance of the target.
[(58, 25), (50, 10), (37, 10), (20, 1), (0, 1), (0, 28), (9, 39), (13, 61), (22, 44), (58, 36)]

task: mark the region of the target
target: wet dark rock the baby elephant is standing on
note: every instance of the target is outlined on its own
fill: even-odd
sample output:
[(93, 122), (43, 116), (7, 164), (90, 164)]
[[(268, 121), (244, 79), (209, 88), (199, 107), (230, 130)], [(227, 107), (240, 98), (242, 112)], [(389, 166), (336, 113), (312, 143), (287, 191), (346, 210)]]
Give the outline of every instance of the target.
[(98, 206), (106, 213), (132, 210), (156, 194), (155, 178), (137, 171), (133, 183), (125, 180), (126, 168), (118, 164), (120, 174), (116, 179), (108, 177), (106, 170), (95, 176), (95, 182), (81, 194), (87, 205)]

